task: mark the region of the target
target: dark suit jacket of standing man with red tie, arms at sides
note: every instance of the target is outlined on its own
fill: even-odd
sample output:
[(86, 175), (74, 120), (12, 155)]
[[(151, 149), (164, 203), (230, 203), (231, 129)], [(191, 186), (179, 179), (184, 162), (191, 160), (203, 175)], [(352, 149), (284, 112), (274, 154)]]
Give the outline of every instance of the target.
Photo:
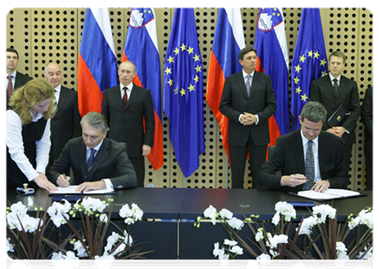
[[(127, 144), (129, 157), (142, 157), (142, 145), (152, 147), (154, 142), (154, 107), (151, 93), (134, 84), (124, 109), (120, 84), (104, 92), (101, 113), (109, 123), (108, 137)], [(145, 132), (143, 132), (143, 118)]]

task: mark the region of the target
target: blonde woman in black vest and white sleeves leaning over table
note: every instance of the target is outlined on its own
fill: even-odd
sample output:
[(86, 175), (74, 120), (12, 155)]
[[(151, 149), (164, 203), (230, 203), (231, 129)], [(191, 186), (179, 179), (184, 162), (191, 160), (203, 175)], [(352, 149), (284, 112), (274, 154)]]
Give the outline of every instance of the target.
[(48, 191), (45, 169), (50, 151), (50, 118), (56, 113), (55, 95), (44, 79), (34, 79), (14, 91), (4, 114), (5, 186), (22, 187), (33, 181)]

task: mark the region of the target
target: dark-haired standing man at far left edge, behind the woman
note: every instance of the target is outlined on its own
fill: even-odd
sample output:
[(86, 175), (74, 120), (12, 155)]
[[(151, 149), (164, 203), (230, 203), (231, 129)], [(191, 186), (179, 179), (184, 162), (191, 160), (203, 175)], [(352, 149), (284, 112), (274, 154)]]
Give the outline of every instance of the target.
[(19, 64), (19, 53), (14, 48), (6, 48), (4, 54), (5, 62), (5, 86), (4, 89), (4, 100), (5, 100), (5, 111), (9, 109), (8, 102), (13, 95), (13, 91), (22, 87), (32, 80), (32, 78), (26, 74), (22, 74), (17, 71), (17, 65)]

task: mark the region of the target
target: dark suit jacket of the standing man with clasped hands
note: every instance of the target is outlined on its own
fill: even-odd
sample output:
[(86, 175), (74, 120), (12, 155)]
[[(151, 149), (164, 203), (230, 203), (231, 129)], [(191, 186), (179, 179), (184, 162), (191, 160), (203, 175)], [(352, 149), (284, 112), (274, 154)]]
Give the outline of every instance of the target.
[[(244, 146), (249, 135), (256, 145), (270, 143), (268, 119), (276, 108), (275, 93), (269, 75), (254, 71), (250, 96), (247, 96), (242, 71), (229, 75), (220, 101), (220, 112), (229, 118), (229, 144)], [(244, 112), (258, 115), (258, 125), (242, 125), (238, 118)]]

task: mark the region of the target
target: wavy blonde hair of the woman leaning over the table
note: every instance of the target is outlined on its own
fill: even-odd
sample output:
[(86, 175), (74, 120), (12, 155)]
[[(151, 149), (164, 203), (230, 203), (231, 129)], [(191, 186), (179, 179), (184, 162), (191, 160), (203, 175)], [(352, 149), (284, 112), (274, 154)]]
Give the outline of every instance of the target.
[(47, 111), (43, 114), (46, 119), (56, 115), (54, 90), (46, 80), (34, 79), (13, 92), (9, 105), (20, 116), (22, 125), (25, 126), (31, 122), (30, 108), (48, 98), (51, 98), (51, 102)]

